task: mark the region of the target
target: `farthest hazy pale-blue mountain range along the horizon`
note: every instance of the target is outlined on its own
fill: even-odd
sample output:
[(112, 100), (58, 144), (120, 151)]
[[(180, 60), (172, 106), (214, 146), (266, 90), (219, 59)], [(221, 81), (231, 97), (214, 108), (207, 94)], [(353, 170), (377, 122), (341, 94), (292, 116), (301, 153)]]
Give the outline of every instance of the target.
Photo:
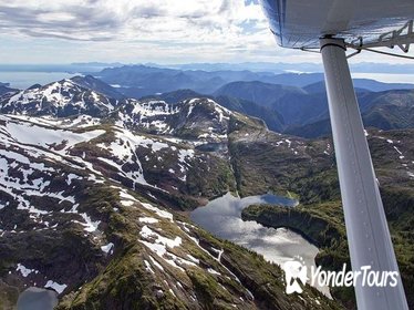
[[(304, 87), (323, 82), (322, 73), (282, 73), (252, 71), (203, 71), (153, 68), (145, 65), (124, 65), (107, 68), (93, 73), (107, 84), (113, 85), (127, 97), (139, 99), (145, 95), (189, 89), (203, 94), (213, 94), (232, 82), (262, 82), (287, 86)], [(355, 86), (368, 91), (413, 89), (414, 84), (381, 83), (368, 79), (355, 79)], [(323, 85), (314, 85), (314, 91), (323, 91)], [(314, 92), (313, 91), (313, 92)]]

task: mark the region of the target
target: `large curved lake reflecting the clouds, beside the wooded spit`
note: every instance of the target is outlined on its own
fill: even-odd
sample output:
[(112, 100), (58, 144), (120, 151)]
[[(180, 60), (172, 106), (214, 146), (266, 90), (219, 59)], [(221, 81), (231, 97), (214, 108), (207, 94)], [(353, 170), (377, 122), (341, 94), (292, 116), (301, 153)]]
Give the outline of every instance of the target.
[[(275, 229), (256, 221), (244, 221), (241, 210), (253, 204), (294, 207), (298, 202), (270, 194), (239, 198), (228, 193), (192, 211), (190, 218), (213, 235), (262, 255), (267, 261), (282, 265), (300, 256), (308, 270), (315, 266), (319, 249), (299, 234), (287, 228)], [(318, 289), (330, 297), (329, 288)]]

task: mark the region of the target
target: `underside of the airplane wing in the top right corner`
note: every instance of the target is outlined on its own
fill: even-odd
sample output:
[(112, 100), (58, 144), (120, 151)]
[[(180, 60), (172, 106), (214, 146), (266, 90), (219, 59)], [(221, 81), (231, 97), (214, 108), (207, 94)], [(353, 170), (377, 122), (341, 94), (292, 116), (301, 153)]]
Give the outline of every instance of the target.
[(413, 0), (260, 0), (279, 45), (319, 48), (319, 38), (337, 35), (346, 43), (372, 44), (407, 33), (414, 18)]

